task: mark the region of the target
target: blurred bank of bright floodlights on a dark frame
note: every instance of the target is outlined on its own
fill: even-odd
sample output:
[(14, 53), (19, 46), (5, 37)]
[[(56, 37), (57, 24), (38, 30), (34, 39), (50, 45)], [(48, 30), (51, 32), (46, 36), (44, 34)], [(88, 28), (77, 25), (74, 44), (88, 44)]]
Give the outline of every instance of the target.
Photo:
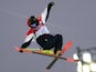
[(77, 48), (74, 59), (79, 60), (76, 63), (77, 72), (96, 72), (96, 48)]

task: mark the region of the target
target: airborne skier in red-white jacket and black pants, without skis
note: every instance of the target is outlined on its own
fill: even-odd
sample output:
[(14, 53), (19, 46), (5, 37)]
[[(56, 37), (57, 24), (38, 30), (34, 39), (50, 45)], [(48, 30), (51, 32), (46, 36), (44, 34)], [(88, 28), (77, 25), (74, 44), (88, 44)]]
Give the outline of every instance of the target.
[(42, 50), (53, 49), (54, 54), (56, 54), (57, 51), (62, 50), (62, 44), (63, 44), (62, 34), (55, 34), (55, 35), (51, 34), (45, 24), (47, 21), (51, 8), (53, 6), (54, 6), (54, 2), (50, 2), (39, 18), (31, 16), (28, 19), (28, 25), (30, 27), (30, 30), (26, 32), (26, 38), (23, 44), (21, 45), (21, 49), (28, 48), (31, 41), (35, 39), (35, 41), (42, 48)]

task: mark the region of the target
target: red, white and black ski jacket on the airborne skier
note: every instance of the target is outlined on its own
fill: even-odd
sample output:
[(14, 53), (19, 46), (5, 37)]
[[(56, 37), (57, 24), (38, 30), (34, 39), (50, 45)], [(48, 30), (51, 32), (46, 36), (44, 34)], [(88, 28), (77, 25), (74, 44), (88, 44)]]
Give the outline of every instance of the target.
[[(26, 37), (24, 42), (29, 42), (30, 40), (35, 41), (36, 38), (39, 38), (42, 34), (50, 33), (50, 31), (46, 28), (46, 21), (50, 14), (52, 4), (47, 4), (47, 7), (44, 9), (44, 11), (40, 14), (38, 18), (39, 20), (39, 28), (38, 30), (33, 30), (32, 28), (26, 32)], [(26, 20), (26, 24), (29, 25), (29, 19)], [(29, 25), (30, 27), (30, 25)]]

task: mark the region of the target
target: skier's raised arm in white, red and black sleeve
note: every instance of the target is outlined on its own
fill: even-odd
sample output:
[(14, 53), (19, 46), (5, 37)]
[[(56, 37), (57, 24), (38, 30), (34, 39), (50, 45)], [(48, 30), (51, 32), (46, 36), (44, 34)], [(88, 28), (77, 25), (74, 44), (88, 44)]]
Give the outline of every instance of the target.
[(47, 21), (53, 4), (54, 2), (50, 2), (44, 11), (40, 14), (39, 20), (42, 21), (42, 23), (45, 23)]

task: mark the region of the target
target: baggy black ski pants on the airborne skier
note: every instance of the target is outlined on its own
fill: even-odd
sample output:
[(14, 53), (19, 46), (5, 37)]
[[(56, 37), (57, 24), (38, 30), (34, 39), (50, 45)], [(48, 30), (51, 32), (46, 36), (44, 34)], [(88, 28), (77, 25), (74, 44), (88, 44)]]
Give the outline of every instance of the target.
[(54, 49), (54, 53), (62, 50), (63, 38), (61, 34), (42, 34), (36, 39), (36, 42), (43, 50)]

